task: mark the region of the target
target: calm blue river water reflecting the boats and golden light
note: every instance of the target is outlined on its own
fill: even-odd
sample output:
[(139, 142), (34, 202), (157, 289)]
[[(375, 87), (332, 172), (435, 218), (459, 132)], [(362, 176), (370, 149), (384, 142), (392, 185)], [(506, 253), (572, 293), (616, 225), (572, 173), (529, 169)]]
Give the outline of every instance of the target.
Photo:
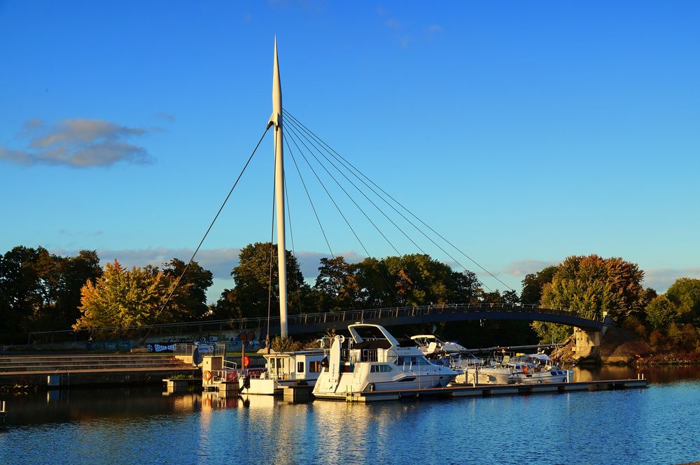
[[(1, 464), (675, 464), (700, 459), (700, 369), (648, 389), (289, 404), (160, 389), (3, 396)], [(636, 371), (577, 370), (580, 379)]]

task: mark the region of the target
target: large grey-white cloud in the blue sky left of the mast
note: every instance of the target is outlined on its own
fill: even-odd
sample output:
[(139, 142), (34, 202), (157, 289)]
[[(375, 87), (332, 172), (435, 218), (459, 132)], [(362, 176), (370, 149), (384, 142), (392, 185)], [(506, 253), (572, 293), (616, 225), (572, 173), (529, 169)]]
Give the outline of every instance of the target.
[(125, 139), (157, 129), (127, 127), (105, 120), (75, 118), (47, 125), (40, 118), (25, 122), (20, 138), (29, 138), (27, 150), (0, 147), (0, 159), (10, 163), (50, 164), (85, 168), (111, 166), (118, 162), (146, 164), (148, 151)]

